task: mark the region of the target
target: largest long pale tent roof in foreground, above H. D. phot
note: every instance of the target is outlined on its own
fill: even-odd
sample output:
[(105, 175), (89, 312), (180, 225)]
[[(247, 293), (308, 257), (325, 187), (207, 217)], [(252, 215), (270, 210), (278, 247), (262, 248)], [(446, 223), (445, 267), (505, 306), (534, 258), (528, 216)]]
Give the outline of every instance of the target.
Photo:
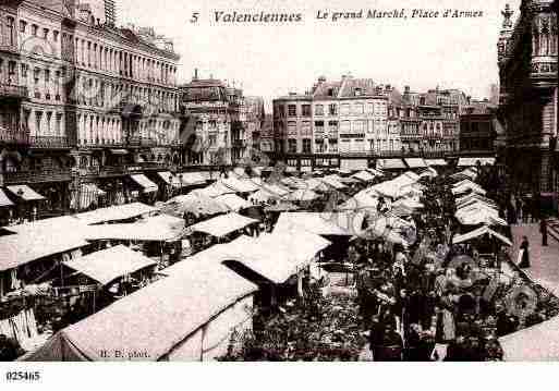
[[(29, 362), (148, 361), (169, 358), (212, 319), (226, 313), (258, 288), (222, 265), (179, 262), (181, 270), (122, 297), (101, 311), (59, 331), (49, 343), (26, 356)], [(179, 265), (177, 264), (177, 265)], [(242, 310), (242, 308), (240, 308)], [(234, 327), (226, 321), (220, 327)], [(229, 330), (229, 329), (228, 329)], [(220, 338), (228, 338), (228, 333)], [(72, 346), (60, 350), (58, 346)], [(107, 352), (145, 352), (116, 356)], [(124, 346), (124, 347), (123, 347)], [(198, 340), (196, 354), (203, 343)], [(73, 354), (68, 354), (73, 353)], [(78, 353), (77, 353), (78, 352)], [(192, 359), (192, 358), (191, 358)]]

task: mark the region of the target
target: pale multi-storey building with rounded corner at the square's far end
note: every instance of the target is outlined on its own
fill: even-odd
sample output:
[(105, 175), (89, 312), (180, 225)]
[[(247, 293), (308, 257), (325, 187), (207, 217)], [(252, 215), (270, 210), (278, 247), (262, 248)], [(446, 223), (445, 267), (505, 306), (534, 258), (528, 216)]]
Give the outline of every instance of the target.
[(307, 94), (274, 100), (276, 152), (288, 166), (300, 161), (303, 171), (366, 168), (375, 155), (401, 148), (402, 105), (390, 85), (351, 75), (319, 77)]

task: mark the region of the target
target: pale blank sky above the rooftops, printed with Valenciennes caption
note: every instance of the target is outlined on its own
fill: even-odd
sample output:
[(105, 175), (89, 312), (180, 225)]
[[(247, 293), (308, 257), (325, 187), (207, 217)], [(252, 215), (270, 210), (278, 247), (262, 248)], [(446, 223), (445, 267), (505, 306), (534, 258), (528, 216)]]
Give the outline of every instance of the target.
[[(117, 0), (119, 24), (154, 26), (173, 38), (181, 56), (179, 76), (235, 81), (245, 95), (270, 101), (289, 91), (303, 93), (325, 75), (370, 77), (403, 89), (439, 85), (488, 97), (498, 82), (497, 39), (501, 10), (520, 0)], [(316, 20), (319, 10), (359, 11), (418, 8), (479, 10), (478, 19)], [(214, 12), (302, 13), (303, 23), (215, 23)], [(197, 24), (189, 23), (199, 12)]]

